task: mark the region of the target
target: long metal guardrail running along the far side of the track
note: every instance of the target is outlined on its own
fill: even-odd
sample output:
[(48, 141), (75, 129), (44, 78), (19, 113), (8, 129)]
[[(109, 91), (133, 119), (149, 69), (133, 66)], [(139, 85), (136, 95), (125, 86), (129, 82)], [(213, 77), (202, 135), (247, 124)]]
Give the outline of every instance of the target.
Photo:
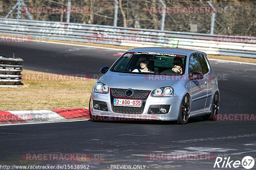
[(212, 34), (5, 18), (0, 18), (0, 34), (27, 35), (34, 41), (56, 39), (134, 47), (176, 47), (179, 40), (179, 48), (256, 58), (256, 39), (253, 36), (242, 36), (236, 41), (234, 36), (226, 36), (226, 40), (220, 40), (220, 35)]

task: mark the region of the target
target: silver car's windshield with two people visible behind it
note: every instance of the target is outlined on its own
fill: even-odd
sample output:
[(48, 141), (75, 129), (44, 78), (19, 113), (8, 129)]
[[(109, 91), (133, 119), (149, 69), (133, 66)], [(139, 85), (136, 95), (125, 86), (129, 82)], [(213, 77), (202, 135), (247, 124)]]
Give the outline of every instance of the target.
[(186, 55), (154, 52), (127, 52), (110, 71), (132, 74), (184, 74)]

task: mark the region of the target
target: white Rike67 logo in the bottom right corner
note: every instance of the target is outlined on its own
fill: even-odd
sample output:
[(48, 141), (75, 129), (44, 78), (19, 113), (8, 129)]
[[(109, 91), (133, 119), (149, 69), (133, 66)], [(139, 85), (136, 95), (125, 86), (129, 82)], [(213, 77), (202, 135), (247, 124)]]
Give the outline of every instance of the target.
[(240, 165), (242, 165), (245, 169), (251, 169), (254, 166), (254, 163), (255, 161), (251, 156), (245, 156), (242, 159), (242, 162), (240, 160), (230, 160), (230, 157), (225, 157), (224, 159), (217, 157), (213, 167), (231, 168), (233, 166), (234, 168), (238, 168)]

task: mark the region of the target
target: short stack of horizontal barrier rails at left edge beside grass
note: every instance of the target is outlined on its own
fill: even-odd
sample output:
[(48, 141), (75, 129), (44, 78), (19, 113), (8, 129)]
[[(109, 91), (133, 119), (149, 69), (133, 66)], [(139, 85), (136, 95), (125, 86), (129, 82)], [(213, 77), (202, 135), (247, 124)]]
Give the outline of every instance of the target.
[(20, 87), (23, 60), (0, 54), (0, 87)]

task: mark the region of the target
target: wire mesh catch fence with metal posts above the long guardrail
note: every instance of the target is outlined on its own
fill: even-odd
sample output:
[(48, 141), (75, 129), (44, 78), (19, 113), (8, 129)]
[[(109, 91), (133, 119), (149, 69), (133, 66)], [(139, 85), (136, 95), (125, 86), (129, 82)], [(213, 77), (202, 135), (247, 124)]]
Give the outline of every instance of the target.
[(256, 2), (0, 0), (0, 18), (221, 35), (255, 35)]

